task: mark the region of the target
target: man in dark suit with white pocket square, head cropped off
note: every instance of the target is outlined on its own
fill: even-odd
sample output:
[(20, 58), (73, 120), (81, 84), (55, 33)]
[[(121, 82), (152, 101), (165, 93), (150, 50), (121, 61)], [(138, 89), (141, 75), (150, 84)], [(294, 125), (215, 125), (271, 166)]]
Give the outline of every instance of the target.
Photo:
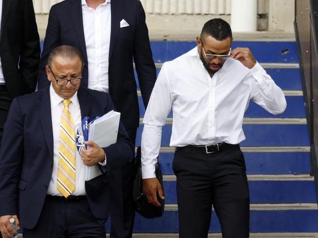
[[(145, 13), (139, 0), (65, 0), (52, 6), (40, 62), (39, 88), (47, 84), (45, 65), (58, 45), (71, 45), (84, 56), (82, 85), (109, 92), (135, 145), (139, 125), (133, 59), (145, 107), (156, 80)], [(111, 238), (131, 238), (133, 161), (112, 181)]]

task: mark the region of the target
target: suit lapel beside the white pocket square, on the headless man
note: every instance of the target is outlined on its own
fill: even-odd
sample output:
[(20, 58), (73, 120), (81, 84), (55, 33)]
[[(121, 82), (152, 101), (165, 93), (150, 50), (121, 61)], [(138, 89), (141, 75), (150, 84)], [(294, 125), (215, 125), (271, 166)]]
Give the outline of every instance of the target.
[(125, 3), (123, 0), (112, 0), (111, 1), (111, 12), (112, 12), (112, 26), (111, 26), (111, 42), (109, 47), (109, 60), (112, 58), (116, 38), (120, 28), (120, 21), (123, 19)]

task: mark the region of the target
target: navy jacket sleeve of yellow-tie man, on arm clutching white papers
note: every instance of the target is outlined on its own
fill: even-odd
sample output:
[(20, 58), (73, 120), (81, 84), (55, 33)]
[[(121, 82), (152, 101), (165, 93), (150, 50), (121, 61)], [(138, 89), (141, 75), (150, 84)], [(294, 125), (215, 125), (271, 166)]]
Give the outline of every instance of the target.
[[(105, 113), (112, 110), (115, 111), (116, 109), (109, 94), (107, 94), (107, 101), (108, 104)], [(134, 146), (121, 121), (119, 122), (117, 142), (102, 149), (105, 151), (107, 161), (106, 166), (100, 166), (103, 172), (107, 171), (109, 173), (132, 161), (135, 155)]]

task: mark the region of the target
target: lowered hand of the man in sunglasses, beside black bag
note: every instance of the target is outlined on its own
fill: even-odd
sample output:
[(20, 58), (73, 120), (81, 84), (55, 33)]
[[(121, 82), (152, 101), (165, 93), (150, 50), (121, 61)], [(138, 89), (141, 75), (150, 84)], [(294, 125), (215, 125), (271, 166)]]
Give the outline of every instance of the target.
[(161, 184), (157, 178), (142, 179), (142, 190), (147, 196), (148, 202), (151, 202), (157, 207), (161, 206), (157, 199), (157, 191), (161, 199), (164, 199), (164, 195)]

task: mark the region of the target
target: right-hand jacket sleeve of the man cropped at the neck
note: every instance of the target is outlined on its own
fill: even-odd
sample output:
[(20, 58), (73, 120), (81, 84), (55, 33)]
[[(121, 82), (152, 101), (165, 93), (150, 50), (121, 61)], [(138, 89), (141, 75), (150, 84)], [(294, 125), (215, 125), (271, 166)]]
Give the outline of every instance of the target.
[(155, 85), (157, 72), (150, 48), (145, 12), (141, 2), (137, 1), (137, 24), (134, 42), (134, 60), (140, 85), (141, 96), (145, 108)]

